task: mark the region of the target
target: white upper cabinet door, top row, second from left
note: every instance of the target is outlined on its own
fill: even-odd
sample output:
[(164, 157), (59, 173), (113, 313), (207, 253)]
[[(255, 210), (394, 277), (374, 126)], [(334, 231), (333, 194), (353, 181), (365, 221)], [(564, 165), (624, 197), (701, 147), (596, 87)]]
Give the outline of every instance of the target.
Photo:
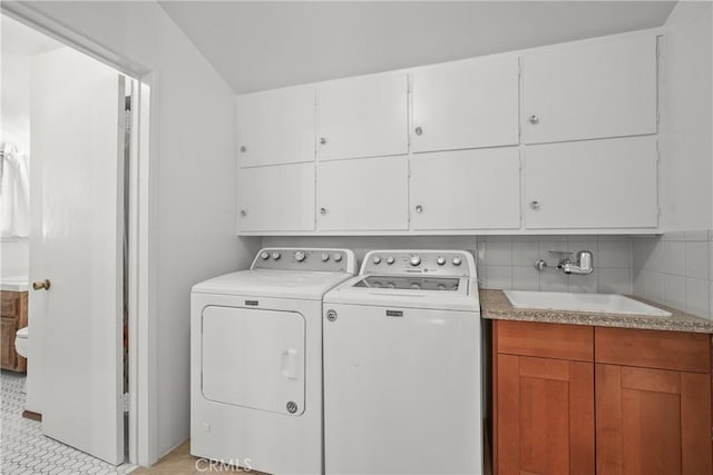
[(367, 76), (320, 86), (318, 123), (320, 160), (407, 154), (407, 75)]

